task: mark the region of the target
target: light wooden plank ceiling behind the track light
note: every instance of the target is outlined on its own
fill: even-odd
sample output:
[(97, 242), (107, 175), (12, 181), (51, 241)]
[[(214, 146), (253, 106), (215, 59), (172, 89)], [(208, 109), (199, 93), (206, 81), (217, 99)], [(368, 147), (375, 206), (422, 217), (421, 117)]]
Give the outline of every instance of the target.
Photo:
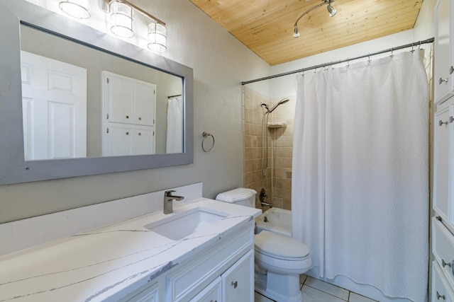
[(423, 0), (336, 0), (294, 23), (321, 0), (191, 0), (270, 65), (399, 33), (414, 27)]

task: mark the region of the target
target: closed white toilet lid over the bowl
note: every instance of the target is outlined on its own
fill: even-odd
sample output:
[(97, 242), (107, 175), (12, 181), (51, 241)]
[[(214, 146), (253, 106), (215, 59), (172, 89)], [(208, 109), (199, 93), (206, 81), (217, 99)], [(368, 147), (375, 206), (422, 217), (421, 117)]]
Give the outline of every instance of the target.
[(298, 240), (270, 231), (261, 231), (254, 238), (255, 250), (270, 257), (300, 260), (309, 255), (309, 248)]

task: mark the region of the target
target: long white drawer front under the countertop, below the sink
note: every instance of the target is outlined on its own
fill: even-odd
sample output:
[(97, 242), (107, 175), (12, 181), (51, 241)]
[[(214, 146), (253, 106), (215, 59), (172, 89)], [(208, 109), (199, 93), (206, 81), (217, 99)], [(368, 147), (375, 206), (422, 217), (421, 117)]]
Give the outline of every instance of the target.
[(253, 239), (253, 228), (248, 226), (233, 238), (196, 257), (192, 263), (170, 273), (166, 284), (171, 301), (187, 300), (192, 292), (200, 291), (212, 281), (209, 280), (211, 277), (222, 274), (222, 269), (238, 260), (245, 248), (252, 248)]

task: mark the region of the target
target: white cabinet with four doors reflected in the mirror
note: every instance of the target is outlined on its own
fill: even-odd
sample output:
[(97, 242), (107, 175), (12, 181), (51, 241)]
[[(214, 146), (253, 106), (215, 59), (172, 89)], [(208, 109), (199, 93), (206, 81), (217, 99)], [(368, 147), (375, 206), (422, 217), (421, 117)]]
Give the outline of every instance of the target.
[(103, 71), (103, 155), (155, 153), (156, 85)]

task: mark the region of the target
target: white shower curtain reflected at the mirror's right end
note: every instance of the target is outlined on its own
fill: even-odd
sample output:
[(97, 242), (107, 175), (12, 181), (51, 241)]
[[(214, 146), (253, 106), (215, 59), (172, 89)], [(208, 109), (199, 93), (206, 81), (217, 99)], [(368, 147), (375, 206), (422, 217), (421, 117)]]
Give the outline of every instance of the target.
[(183, 100), (181, 96), (170, 98), (167, 103), (166, 153), (183, 151)]

